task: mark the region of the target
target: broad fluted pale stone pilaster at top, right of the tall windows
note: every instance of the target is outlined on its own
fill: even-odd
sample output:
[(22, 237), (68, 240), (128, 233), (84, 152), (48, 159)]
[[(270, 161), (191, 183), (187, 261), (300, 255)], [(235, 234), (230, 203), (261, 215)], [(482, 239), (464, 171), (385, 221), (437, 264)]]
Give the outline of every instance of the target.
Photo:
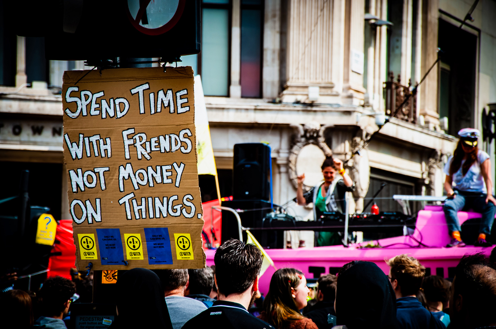
[(344, 12), (340, 2), (288, 0), (284, 102), (305, 102), (309, 86), (316, 86), (320, 95), (318, 103), (337, 103), (339, 93), (334, 90), (333, 79), (337, 78), (335, 70), (341, 69), (342, 61), (335, 54), (340, 53), (342, 47), (335, 44), (334, 36), (336, 29), (337, 33), (342, 33), (339, 25), (342, 21), (336, 21), (336, 16)]

